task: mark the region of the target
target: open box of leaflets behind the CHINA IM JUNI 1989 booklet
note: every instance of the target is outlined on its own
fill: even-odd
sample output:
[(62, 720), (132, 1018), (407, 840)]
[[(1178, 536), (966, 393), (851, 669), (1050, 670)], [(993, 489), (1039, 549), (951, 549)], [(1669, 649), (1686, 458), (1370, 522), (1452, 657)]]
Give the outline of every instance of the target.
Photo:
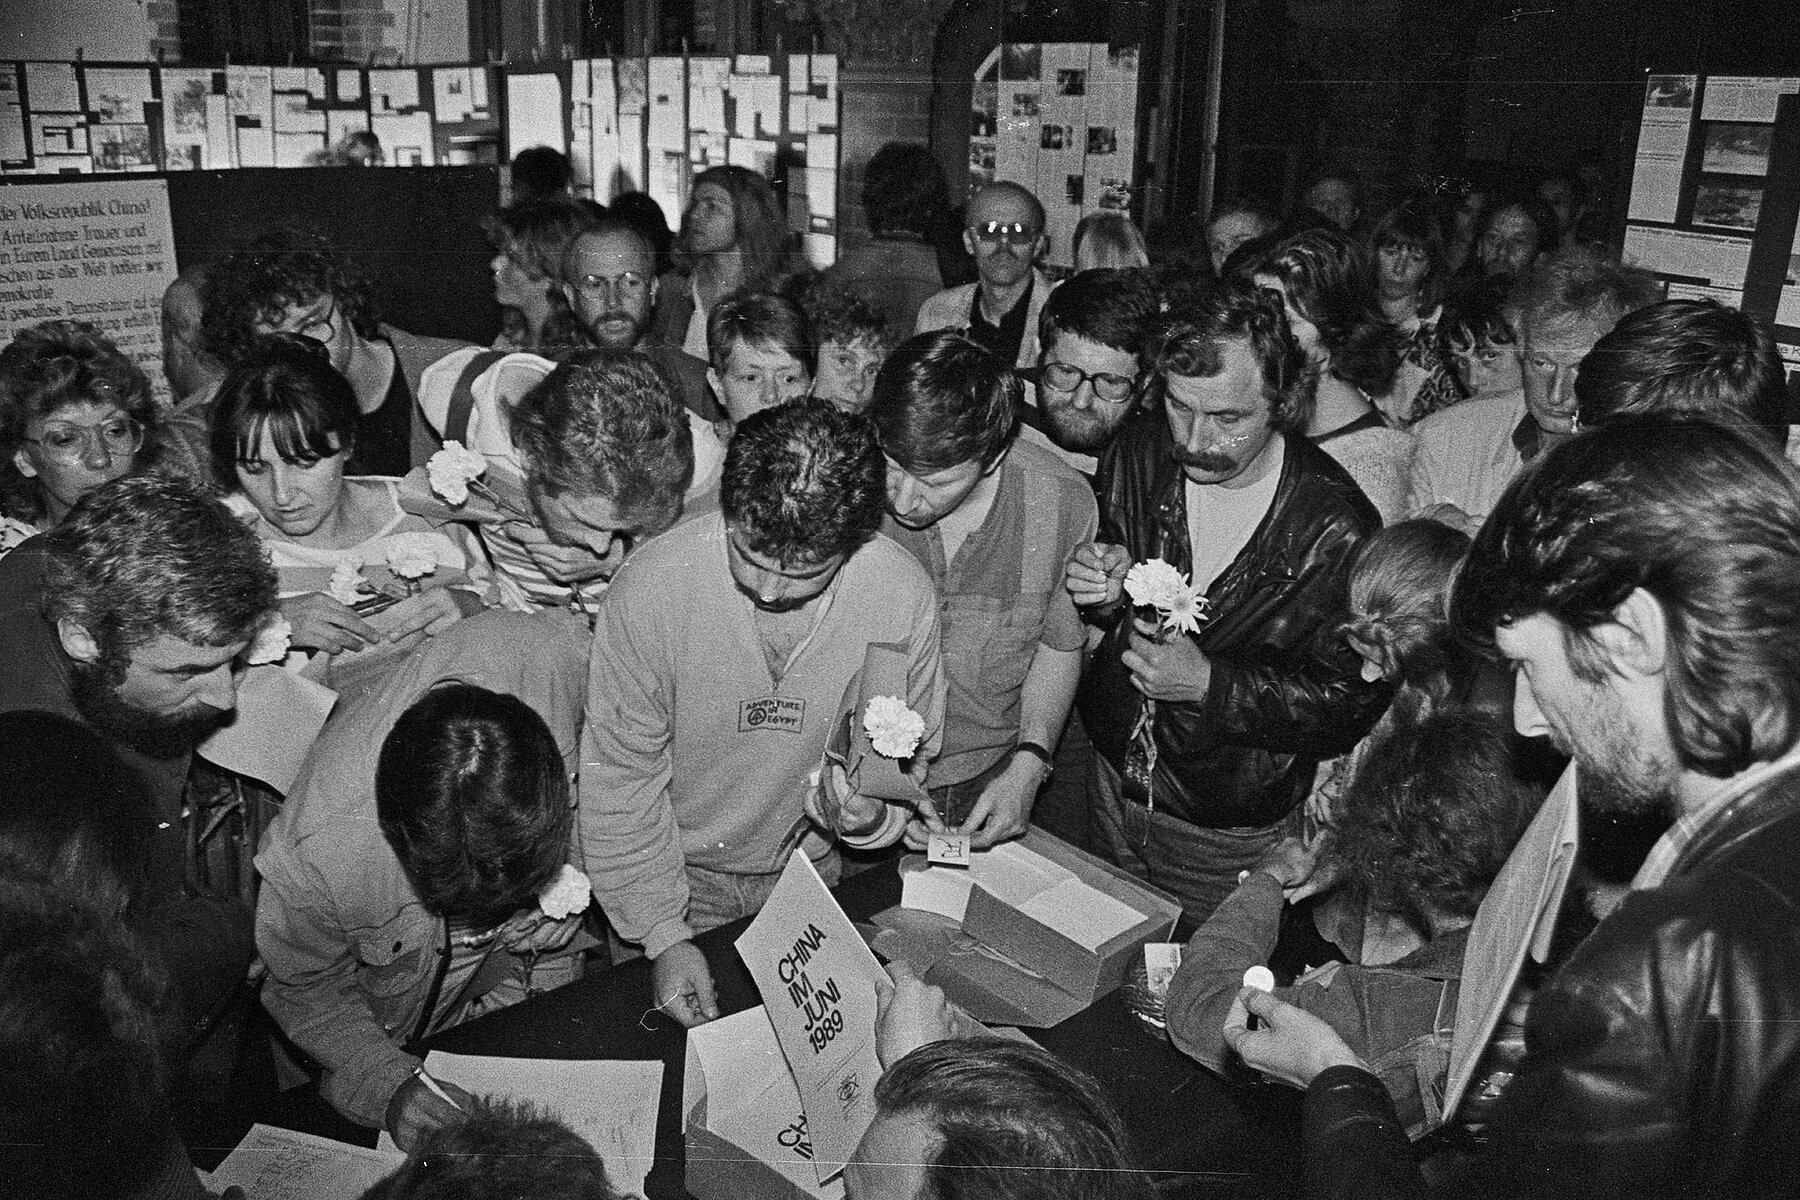
[(697, 1200), (842, 1200), (817, 1182), (799, 1088), (758, 1006), (688, 1031), (682, 1135)]

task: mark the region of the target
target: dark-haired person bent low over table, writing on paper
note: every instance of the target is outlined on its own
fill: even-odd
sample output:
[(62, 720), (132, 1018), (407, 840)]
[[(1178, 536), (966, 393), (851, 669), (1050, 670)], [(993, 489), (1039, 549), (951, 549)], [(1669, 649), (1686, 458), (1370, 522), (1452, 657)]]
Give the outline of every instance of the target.
[(585, 651), (567, 613), (434, 639), (333, 718), (256, 856), (263, 1004), (401, 1148), (463, 1103), (405, 1043), (580, 973), (580, 914), (536, 896), (572, 853)]

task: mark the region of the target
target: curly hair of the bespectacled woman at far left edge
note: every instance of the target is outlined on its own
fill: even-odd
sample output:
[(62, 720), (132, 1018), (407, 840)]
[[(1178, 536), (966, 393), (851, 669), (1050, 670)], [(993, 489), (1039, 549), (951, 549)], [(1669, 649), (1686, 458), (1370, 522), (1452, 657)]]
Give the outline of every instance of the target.
[(144, 426), (139, 466), (155, 466), (169, 444), (149, 380), (112, 338), (85, 320), (45, 320), (0, 351), (0, 513), (43, 520), (43, 488), (13, 461), (31, 421), (65, 405), (117, 405)]

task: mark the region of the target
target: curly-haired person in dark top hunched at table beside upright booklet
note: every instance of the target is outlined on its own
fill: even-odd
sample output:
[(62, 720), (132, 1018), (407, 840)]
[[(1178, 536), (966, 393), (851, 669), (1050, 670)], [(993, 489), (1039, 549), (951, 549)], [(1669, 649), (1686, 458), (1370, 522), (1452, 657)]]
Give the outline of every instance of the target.
[(1276, 995), (1357, 1049), (1413, 1137), (1436, 1128), (1469, 925), (1537, 799), (1492, 716), (1447, 711), (1393, 730), (1363, 761), (1334, 833), (1310, 849), (1278, 842), (1193, 934), (1168, 986), (1170, 1040), (1224, 1070), (1220, 1027), (1244, 970), (1274, 952), (1283, 894), (1337, 891), (1355, 918), (1336, 930), (1348, 961)]

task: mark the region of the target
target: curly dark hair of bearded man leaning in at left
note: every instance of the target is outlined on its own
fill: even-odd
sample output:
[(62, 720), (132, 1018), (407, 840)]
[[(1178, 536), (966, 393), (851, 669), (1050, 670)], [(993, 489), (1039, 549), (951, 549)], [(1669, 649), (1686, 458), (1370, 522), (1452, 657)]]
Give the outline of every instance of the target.
[(45, 534), (43, 596), (45, 617), (85, 628), (119, 682), (131, 649), (158, 633), (248, 642), (275, 606), (275, 569), (256, 534), (194, 484), (126, 475)]

